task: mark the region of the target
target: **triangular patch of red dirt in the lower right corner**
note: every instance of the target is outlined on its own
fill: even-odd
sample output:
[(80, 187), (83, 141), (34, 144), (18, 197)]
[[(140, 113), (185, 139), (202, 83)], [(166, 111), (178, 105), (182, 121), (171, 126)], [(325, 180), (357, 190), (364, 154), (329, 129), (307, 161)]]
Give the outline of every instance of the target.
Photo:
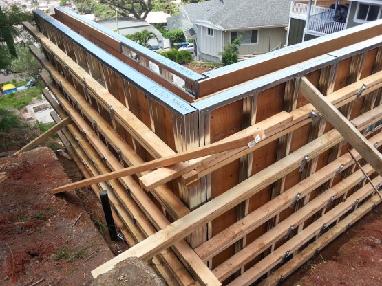
[(382, 285), (382, 203), (281, 283)]

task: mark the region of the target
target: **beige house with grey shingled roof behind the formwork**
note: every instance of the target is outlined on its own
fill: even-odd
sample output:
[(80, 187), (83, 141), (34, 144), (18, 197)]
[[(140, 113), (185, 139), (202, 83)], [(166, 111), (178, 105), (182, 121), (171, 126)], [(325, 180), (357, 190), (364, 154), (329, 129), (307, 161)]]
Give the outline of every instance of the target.
[(196, 59), (220, 62), (224, 45), (237, 37), (239, 55), (283, 47), (289, 11), (290, 0), (210, 0), (181, 6), (181, 15), (168, 19), (167, 25), (195, 39)]

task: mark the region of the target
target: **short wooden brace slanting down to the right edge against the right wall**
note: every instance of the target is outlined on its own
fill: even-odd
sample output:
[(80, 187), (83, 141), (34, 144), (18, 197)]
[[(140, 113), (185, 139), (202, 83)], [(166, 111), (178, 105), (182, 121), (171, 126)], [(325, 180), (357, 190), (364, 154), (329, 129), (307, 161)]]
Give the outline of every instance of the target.
[(341, 135), (355, 148), (362, 157), (382, 176), (382, 155), (359, 131), (319, 92), (304, 76), (301, 78), (301, 94), (326, 117)]

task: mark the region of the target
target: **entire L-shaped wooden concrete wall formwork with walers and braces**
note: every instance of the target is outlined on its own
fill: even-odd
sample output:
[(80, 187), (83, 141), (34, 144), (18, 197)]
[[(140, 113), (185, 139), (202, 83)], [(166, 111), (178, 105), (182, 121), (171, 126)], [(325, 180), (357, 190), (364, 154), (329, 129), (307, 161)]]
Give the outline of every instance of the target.
[(382, 20), (198, 74), (65, 8), (34, 19), (48, 133), (86, 178), (52, 192), (107, 190), (130, 246), (94, 277), (137, 256), (168, 285), (275, 285), (380, 203)]

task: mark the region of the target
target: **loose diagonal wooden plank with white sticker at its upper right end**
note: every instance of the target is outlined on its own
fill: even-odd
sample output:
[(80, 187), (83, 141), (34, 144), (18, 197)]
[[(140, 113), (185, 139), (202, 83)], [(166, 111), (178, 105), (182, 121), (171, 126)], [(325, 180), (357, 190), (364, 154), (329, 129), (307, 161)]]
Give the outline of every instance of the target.
[(67, 190), (72, 190), (74, 188), (89, 186), (90, 184), (96, 184), (96, 183), (99, 183), (100, 181), (107, 181), (109, 179), (117, 179), (119, 177), (124, 177), (127, 175), (134, 175), (136, 173), (145, 172), (153, 168), (169, 166), (169, 165), (184, 162), (190, 159), (195, 159), (199, 157), (204, 157), (206, 155), (212, 155), (215, 153), (228, 151), (233, 148), (240, 148), (242, 146), (248, 145), (249, 142), (252, 142), (253, 140), (255, 140), (257, 135), (259, 136), (260, 140), (264, 139), (265, 137), (264, 131), (257, 131), (257, 133), (254, 133), (252, 135), (247, 135), (245, 137), (238, 137), (235, 140), (231, 140), (229, 142), (216, 142), (214, 144), (203, 146), (203, 147), (193, 149), (190, 151), (184, 151), (182, 153), (171, 155), (169, 157), (162, 157), (150, 162), (142, 163), (140, 165), (131, 166), (123, 170), (116, 170), (114, 172), (111, 172), (102, 176), (93, 177), (91, 179), (85, 179), (83, 181), (77, 181), (72, 184), (67, 184), (65, 186), (55, 188), (54, 190), (52, 190), (52, 194), (58, 194), (59, 192), (65, 192)]

